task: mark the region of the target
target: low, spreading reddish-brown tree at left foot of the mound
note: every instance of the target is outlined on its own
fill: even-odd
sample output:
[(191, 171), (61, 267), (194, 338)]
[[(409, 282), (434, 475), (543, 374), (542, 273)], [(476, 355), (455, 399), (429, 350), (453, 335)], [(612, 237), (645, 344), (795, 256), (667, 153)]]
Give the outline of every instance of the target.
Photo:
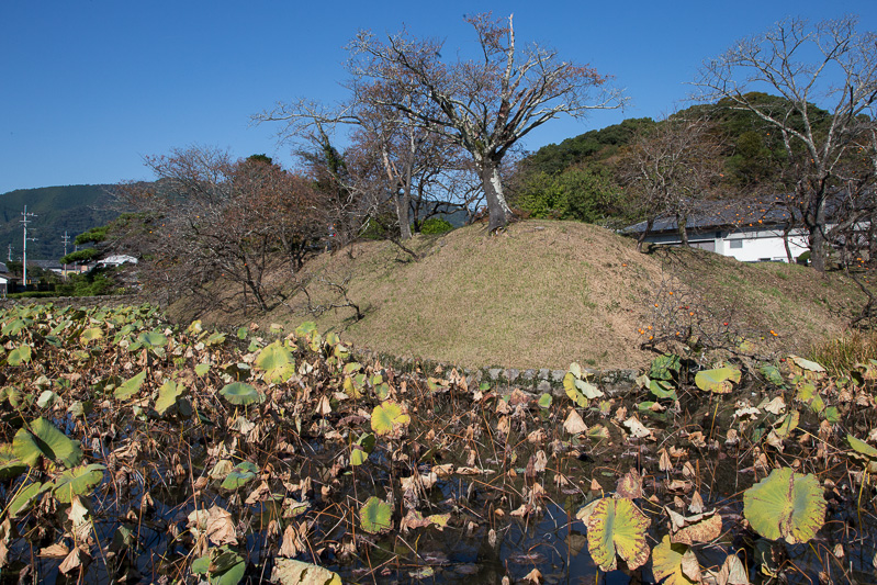
[(229, 300), (216, 294), (217, 281), (224, 281), (240, 285), (244, 308), (278, 304), (282, 282), (266, 278), (284, 261), (296, 270), (323, 234), (322, 206), (310, 181), (270, 161), (233, 160), (210, 148), (148, 157), (146, 165), (155, 182), (124, 183), (115, 194), (150, 217), (150, 234), (158, 235), (147, 285), (206, 307)]

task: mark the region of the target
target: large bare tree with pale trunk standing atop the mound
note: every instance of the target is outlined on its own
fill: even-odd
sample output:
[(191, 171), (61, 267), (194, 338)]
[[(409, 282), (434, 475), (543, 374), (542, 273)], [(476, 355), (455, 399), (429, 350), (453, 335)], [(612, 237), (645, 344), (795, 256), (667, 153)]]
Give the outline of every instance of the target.
[[(606, 78), (588, 66), (560, 60), (556, 53), (515, 43), (507, 24), (491, 14), (466, 18), (475, 29), (481, 58), (446, 64), (442, 43), (406, 32), (379, 41), (368, 31), (351, 43), (351, 72), (394, 88), (382, 105), (405, 113), (431, 132), (464, 148), (475, 164), (487, 201), (490, 229), (511, 217), (499, 167), (508, 149), (533, 128), (560, 114), (581, 117), (589, 110), (618, 108), (619, 91), (591, 91)], [(419, 95), (437, 109), (412, 106), (401, 95)]]

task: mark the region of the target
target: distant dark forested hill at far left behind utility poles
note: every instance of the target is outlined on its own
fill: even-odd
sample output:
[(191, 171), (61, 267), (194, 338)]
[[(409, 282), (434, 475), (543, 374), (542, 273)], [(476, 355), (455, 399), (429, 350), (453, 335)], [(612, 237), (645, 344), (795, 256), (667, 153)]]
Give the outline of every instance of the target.
[(74, 184), (16, 189), (0, 195), (0, 261), (5, 261), (9, 245), (12, 259), (20, 260), (22, 251), (22, 212), (36, 214), (27, 224), (27, 237), (37, 238), (27, 243), (29, 260), (57, 260), (64, 256), (64, 232), (72, 240), (78, 234), (98, 225), (104, 225), (119, 215), (110, 209), (109, 184)]

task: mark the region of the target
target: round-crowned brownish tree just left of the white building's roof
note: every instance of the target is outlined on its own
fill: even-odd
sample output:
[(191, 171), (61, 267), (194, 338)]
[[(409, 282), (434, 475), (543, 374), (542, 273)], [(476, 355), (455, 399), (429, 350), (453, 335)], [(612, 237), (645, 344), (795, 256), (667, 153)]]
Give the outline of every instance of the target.
[(687, 220), (721, 172), (719, 145), (704, 119), (670, 116), (640, 130), (618, 166), (619, 180), (631, 206), (645, 216), (637, 249), (662, 215), (676, 220), (679, 238), (688, 245)]

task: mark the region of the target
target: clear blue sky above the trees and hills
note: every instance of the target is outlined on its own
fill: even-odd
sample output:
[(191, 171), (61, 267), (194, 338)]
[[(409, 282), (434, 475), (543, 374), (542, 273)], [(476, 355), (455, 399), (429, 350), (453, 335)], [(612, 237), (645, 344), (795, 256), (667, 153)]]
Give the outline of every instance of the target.
[(34, 187), (149, 179), (146, 155), (209, 145), (293, 162), (274, 125), (250, 116), (279, 100), (344, 97), (344, 46), (359, 29), (471, 48), (463, 14), (515, 14), (518, 42), (615, 77), (623, 112), (561, 119), (527, 137), (536, 149), (626, 117), (685, 106), (700, 63), (789, 15), (861, 16), (873, 0), (362, 2), (0, 1), (0, 193)]

